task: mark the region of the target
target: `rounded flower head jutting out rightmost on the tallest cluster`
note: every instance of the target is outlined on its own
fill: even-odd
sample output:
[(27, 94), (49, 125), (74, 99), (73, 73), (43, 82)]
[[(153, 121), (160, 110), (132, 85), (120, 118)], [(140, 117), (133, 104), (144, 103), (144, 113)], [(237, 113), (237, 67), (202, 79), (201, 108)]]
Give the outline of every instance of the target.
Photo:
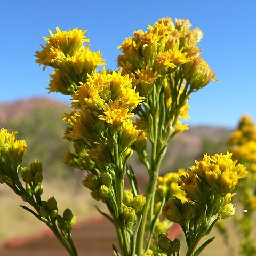
[(212, 69), (201, 57), (192, 57), (191, 62), (186, 63), (183, 69), (184, 77), (193, 89), (201, 89), (211, 80), (217, 81)]

